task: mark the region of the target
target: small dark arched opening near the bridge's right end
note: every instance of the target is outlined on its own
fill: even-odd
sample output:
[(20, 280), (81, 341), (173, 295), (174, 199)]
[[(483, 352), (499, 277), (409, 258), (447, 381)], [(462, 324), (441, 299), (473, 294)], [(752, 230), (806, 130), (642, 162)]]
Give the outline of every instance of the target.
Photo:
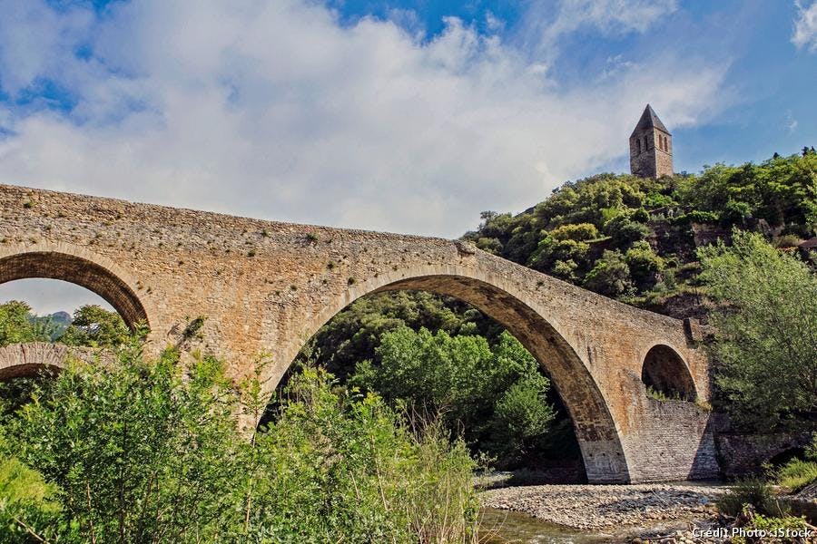
[(644, 359), (641, 381), (647, 393), (666, 400), (695, 400), (695, 384), (692, 374), (681, 355), (668, 345), (654, 345)]

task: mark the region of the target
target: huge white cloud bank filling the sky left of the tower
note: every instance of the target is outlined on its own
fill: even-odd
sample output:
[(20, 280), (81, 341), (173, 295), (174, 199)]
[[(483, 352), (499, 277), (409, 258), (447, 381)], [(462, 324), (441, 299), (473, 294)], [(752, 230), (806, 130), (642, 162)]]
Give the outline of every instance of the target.
[[(623, 14), (623, 2), (565, 2), (558, 32), (579, 15), (641, 31), (674, 9), (630, 0)], [(483, 209), (524, 209), (621, 157), (645, 102), (672, 128), (728, 101), (725, 66), (674, 53), (565, 91), (546, 63), (457, 19), (420, 42), (298, 0), (111, 10), (0, 0), (0, 21), (16, 14), (13, 35), (0, 27), (4, 90), (52, 78), (77, 101), (69, 113), (0, 105), (12, 131), (0, 182), (456, 237)], [(69, 54), (85, 43), (91, 58)]]

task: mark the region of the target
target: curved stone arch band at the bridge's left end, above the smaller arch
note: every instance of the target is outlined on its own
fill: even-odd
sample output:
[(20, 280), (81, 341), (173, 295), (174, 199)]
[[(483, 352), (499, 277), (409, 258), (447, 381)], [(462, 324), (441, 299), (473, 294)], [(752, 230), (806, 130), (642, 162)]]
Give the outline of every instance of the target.
[(115, 263), (70, 244), (39, 243), (0, 249), (0, 284), (34, 277), (60, 279), (102, 296), (132, 326), (150, 317), (136, 282)]

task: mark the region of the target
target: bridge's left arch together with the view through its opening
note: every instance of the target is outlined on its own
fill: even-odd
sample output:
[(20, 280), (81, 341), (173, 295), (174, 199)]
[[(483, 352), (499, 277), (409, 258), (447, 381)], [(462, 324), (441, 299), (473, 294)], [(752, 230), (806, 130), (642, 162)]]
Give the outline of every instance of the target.
[[(82, 249), (76, 252), (82, 255)], [(2, 395), (24, 402), (69, 353), (119, 345), (147, 314), (133, 289), (93, 256), (49, 250), (0, 257)]]

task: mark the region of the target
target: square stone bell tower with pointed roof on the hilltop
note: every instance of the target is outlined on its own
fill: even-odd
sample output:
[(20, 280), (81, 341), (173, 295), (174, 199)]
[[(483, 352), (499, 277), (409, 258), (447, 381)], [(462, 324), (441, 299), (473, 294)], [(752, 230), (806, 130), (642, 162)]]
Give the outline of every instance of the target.
[(642, 178), (673, 175), (673, 135), (650, 104), (630, 135), (630, 171)]

